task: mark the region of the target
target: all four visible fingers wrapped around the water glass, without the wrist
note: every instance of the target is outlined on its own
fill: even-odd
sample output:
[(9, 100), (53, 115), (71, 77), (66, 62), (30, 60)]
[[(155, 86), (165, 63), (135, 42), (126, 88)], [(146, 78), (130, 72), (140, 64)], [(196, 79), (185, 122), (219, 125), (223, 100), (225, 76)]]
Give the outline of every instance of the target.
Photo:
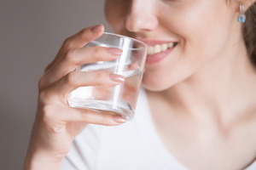
[(119, 125), (125, 122), (124, 117), (116, 116), (115, 113), (99, 113), (67, 105), (67, 94), (76, 88), (115, 86), (125, 80), (125, 77), (108, 71), (74, 71), (79, 65), (117, 59), (122, 54), (122, 50), (118, 48), (84, 48), (87, 42), (100, 37), (103, 30), (101, 25), (92, 26), (68, 37), (55, 59), (46, 68), (44, 76), (39, 81), (39, 104), (44, 108), (52, 106), (47, 107), (51, 109), (42, 110), (47, 117), (45, 120), (102, 125)]

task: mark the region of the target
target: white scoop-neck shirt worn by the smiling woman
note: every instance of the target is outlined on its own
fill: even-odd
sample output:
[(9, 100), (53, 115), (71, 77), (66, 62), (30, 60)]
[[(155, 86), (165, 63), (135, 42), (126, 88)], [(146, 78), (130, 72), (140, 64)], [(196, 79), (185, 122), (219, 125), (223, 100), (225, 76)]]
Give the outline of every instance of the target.
[[(121, 126), (87, 126), (77, 136), (62, 170), (189, 170), (161, 142), (154, 127), (145, 92), (135, 118)], [(256, 161), (246, 170), (255, 170)]]

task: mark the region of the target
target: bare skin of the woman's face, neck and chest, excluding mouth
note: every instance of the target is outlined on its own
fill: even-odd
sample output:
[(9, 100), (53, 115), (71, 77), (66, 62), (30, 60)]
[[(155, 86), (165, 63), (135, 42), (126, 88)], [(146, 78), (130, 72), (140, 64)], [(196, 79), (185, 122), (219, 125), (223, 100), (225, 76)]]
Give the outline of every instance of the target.
[(256, 157), (256, 73), (237, 22), (239, 4), (106, 1), (115, 32), (178, 42), (165, 59), (145, 66), (143, 86), (160, 138), (192, 169), (241, 169)]

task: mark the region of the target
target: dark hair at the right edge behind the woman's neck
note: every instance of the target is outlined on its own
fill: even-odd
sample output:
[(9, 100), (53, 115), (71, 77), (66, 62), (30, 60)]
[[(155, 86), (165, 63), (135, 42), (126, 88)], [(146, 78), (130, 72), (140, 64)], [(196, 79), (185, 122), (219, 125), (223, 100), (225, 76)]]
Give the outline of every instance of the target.
[(256, 2), (246, 11), (247, 20), (242, 26), (242, 33), (247, 53), (256, 68)]

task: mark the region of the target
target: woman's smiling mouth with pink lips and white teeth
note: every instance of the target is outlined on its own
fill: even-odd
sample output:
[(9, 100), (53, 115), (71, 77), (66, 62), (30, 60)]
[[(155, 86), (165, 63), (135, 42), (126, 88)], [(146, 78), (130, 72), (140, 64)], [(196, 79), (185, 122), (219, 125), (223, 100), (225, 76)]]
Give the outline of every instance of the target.
[(175, 41), (143, 41), (148, 45), (148, 55), (146, 59), (147, 64), (159, 62), (166, 58), (177, 46)]

